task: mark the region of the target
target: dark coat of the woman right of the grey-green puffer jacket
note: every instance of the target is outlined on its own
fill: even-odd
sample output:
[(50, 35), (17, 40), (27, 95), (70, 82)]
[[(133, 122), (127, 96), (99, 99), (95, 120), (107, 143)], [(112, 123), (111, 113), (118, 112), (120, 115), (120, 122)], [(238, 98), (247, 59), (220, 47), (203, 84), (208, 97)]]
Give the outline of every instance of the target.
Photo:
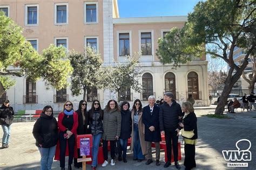
[(120, 139), (128, 139), (131, 137), (131, 130), (132, 130), (132, 117), (131, 111), (128, 109), (126, 111), (121, 110), (121, 133)]

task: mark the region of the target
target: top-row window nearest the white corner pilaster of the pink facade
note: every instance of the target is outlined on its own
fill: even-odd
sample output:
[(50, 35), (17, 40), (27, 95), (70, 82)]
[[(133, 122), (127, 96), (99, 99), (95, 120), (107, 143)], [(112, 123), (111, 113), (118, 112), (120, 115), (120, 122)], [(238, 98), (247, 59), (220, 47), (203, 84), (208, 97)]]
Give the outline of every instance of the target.
[(98, 2), (84, 3), (84, 23), (96, 24), (98, 23)]

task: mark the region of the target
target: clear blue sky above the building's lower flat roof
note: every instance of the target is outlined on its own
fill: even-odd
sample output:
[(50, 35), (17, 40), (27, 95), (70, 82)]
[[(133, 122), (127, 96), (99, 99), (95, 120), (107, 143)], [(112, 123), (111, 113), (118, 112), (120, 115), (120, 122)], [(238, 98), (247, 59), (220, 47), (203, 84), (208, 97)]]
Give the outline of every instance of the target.
[(184, 16), (199, 0), (117, 0), (119, 17)]

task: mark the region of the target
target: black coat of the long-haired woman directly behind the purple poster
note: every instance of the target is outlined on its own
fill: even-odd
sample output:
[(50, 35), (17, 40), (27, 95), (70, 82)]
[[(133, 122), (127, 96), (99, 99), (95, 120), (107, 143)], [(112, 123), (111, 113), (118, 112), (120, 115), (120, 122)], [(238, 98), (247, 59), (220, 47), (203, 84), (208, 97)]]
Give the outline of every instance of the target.
[(83, 115), (82, 111), (77, 110), (78, 114), (78, 127), (77, 127), (77, 134), (90, 134), (88, 130), (88, 124), (89, 124), (89, 116), (88, 112), (85, 110), (84, 116), (85, 116), (85, 124), (83, 122)]

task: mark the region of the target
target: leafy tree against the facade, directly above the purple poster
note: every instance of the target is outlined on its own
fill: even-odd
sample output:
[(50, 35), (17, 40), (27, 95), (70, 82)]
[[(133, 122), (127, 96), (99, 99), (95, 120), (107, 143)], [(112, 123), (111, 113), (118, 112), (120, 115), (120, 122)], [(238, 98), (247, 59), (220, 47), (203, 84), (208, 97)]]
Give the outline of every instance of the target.
[(100, 54), (90, 46), (85, 47), (84, 53), (71, 52), (69, 58), (73, 67), (70, 87), (72, 95), (78, 96), (83, 93), (83, 100), (85, 100), (89, 87), (101, 87), (102, 74), (99, 74), (99, 69), (103, 61)]

